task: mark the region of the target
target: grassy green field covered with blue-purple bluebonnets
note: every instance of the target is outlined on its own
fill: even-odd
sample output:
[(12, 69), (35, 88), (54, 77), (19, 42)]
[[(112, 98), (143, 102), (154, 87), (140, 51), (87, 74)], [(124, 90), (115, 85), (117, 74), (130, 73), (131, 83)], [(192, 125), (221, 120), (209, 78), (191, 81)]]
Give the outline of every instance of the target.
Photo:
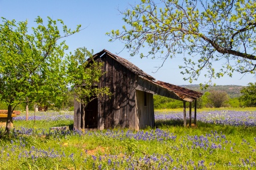
[(21, 114), (9, 137), (0, 131), (0, 169), (256, 169), (255, 108), (199, 110), (192, 128), (182, 118), (162, 110), (152, 129), (73, 131), (72, 112)]

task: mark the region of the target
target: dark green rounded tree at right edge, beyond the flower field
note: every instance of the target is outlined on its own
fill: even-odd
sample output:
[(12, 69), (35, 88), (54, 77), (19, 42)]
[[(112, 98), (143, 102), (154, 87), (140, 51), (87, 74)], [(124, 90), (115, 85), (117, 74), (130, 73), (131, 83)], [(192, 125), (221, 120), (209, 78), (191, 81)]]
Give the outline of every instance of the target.
[(256, 83), (249, 83), (247, 87), (242, 88), (242, 96), (239, 98), (246, 107), (256, 107)]

